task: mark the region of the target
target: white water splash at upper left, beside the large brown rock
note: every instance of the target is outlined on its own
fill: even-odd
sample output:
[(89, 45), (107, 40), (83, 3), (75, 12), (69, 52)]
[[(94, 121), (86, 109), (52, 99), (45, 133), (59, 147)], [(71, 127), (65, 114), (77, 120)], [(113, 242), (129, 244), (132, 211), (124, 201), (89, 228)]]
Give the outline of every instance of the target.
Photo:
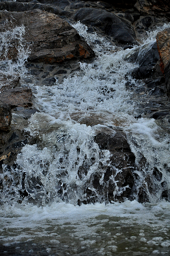
[(0, 32), (0, 76), (1, 87), (3, 79), (7, 77), (23, 78), (27, 70), (25, 62), (31, 51), (30, 44), (24, 38), (25, 27), (15, 26), (8, 20), (1, 26)]

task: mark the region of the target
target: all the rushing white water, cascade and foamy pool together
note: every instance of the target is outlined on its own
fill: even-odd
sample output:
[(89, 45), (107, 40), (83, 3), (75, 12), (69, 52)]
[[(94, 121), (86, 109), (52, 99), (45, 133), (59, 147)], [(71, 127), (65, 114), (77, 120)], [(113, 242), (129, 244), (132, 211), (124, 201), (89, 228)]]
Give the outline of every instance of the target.
[[(112, 46), (104, 37), (88, 34), (87, 27), (81, 23), (73, 26), (93, 46), (96, 57), (91, 63), (79, 63), (79, 70), (62, 83), (56, 77), (51, 87), (34, 80), (23, 65), (24, 54), (29, 53), (23, 40), (24, 28), (4, 32), (7, 38), (10, 33), (17, 38), (20, 34), (21, 55), (17, 63), (8, 58), (3, 60), (1, 70), (7, 75), (15, 72), (21, 75), (21, 84), (32, 89), (34, 104), (41, 112), (35, 113), (23, 128), (38, 143), (23, 147), (17, 156), (16, 168), (9, 171), (3, 166), (1, 176), (8, 176), (13, 182), (6, 186), (4, 180), (6, 190), (2, 193), (0, 209), (1, 255), (169, 255), (170, 203), (161, 199), (161, 183), (166, 182), (166, 189), (170, 190), (167, 171), (170, 137), (155, 119), (135, 118), (139, 113), (133, 92), (125, 87), (127, 79), (141, 86), (130, 76), (138, 64), (125, 60), (134, 49)], [(139, 46), (138, 58), (150, 50), (157, 32), (162, 29), (150, 32)], [(2, 40), (1, 45), (2, 51), (6, 51), (8, 45)], [(26, 84), (24, 77), (31, 77), (33, 82)], [(101, 152), (93, 137), (101, 128), (108, 127), (121, 128), (127, 134), (139, 166), (134, 170), (140, 177), (136, 191), (146, 175), (152, 176), (154, 168), (161, 173), (161, 179), (153, 177), (155, 192), (147, 190), (150, 203), (137, 202), (134, 191), (133, 201), (105, 204), (93, 188), (91, 174), (103, 172), (102, 185), (105, 171), (100, 168), (101, 162), (110, 164), (110, 152)], [(141, 156), (147, 161), (145, 168), (140, 168)], [(92, 158), (87, 174), (79, 179), (79, 167)], [(20, 202), (19, 190), (23, 184), (29, 196)], [(95, 193), (97, 202), (78, 206), (77, 200), (86, 196), (82, 191), (85, 185)], [(122, 193), (119, 189), (115, 191)]]

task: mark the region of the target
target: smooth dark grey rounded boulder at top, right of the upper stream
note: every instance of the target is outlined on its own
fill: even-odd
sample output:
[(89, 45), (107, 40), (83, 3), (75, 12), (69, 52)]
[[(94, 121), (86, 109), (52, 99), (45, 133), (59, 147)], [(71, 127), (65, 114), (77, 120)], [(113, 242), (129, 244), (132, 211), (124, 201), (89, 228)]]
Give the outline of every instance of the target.
[(106, 10), (81, 8), (77, 11), (74, 19), (80, 20), (87, 26), (99, 28), (100, 31), (111, 36), (113, 42), (122, 45), (137, 43), (135, 32), (130, 23)]

